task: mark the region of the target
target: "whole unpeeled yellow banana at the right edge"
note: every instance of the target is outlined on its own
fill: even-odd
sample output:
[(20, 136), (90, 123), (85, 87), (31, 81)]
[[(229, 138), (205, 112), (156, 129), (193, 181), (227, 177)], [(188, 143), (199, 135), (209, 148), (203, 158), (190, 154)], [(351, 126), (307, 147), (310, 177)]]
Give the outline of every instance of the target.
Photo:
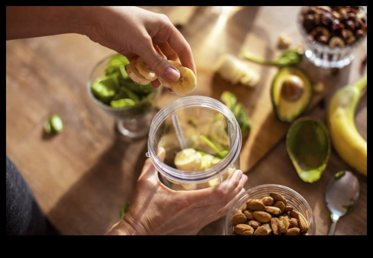
[(367, 175), (367, 141), (357, 131), (354, 115), (366, 86), (367, 77), (364, 77), (353, 85), (341, 88), (333, 95), (327, 110), (327, 125), (335, 150), (364, 175)]

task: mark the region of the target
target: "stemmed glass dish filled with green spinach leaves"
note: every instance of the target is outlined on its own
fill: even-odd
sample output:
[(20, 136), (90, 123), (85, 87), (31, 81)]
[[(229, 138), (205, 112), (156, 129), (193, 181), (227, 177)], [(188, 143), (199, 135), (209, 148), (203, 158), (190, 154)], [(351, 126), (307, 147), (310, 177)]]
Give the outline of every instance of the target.
[(88, 79), (88, 94), (98, 108), (116, 119), (120, 133), (139, 138), (148, 135), (160, 90), (151, 83), (135, 84), (126, 72), (128, 64), (120, 54), (101, 60)]

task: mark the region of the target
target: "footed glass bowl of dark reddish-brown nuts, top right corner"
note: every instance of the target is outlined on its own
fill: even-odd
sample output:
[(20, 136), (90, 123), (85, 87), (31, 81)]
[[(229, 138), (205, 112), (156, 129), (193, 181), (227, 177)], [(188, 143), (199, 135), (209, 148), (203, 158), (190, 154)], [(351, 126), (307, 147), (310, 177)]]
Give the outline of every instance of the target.
[(311, 63), (343, 68), (367, 38), (367, 11), (363, 6), (304, 6), (298, 25)]

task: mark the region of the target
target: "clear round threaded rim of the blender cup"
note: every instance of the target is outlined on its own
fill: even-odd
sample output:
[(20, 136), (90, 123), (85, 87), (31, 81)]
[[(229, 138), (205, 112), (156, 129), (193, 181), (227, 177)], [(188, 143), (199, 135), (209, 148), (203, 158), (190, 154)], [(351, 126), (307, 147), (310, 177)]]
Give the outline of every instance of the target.
[[(190, 108), (190, 107), (204, 107), (204, 108), (211, 108), (216, 109), (222, 115), (224, 115), (228, 121), (231, 122), (233, 130), (235, 130), (235, 137), (232, 139), (232, 146), (228, 152), (228, 154), (217, 164), (214, 164), (208, 168), (203, 170), (195, 170), (195, 171), (183, 171), (178, 170), (176, 168), (172, 168), (167, 164), (164, 164), (160, 159), (157, 157), (155, 152), (155, 148), (153, 146), (154, 136), (156, 131), (158, 130), (159, 126), (162, 124), (164, 119), (170, 116), (173, 112), (178, 111), (183, 108)], [(151, 161), (153, 162), (154, 166), (157, 170), (161, 173), (166, 175), (167, 177), (172, 178), (172, 180), (179, 182), (179, 183), (198, 183), (206, 180), (207, 178), (213, 178), (225, 170), (229, 168), (232, 161), (239, 156), (242, 144), (242, 136), (241, 136), (241, 129), (239, 128), (238, 122), (233, 115), (232, 111), (225, 106), (219, 100), (213, 99), (211, 97), (206, 96), (187, 96), (181, 97), (176, 99), (166, 106), (162, 108), (156, 116), (154, 116), (153, 121), (150, 125), (150, 132), (149, 132), (149, 139), (148, 139), (148, 152)], [(188, 174), (188, 172), (192, 172)]]

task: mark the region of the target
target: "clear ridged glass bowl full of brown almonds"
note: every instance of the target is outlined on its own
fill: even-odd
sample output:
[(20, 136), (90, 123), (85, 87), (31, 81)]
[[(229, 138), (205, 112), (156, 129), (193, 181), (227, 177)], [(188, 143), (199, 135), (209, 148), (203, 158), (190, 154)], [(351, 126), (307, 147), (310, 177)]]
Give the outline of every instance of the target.
[(314, 235), (312, 208), (297, 192), (278, 184), (247, 190), (228, 211), (225, 234), (244, 236)]

